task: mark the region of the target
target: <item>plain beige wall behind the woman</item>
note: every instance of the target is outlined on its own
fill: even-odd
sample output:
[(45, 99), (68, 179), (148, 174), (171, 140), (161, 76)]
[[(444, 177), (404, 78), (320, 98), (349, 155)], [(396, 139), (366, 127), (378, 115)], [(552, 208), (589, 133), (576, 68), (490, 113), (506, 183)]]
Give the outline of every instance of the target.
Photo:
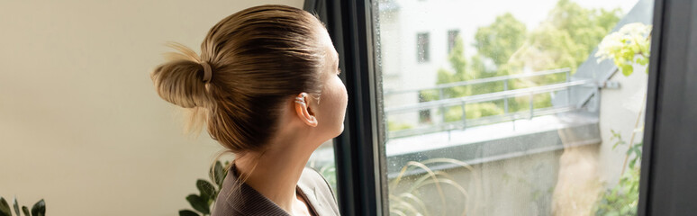
[(187, 138), (149, 70), (264, 1), (2, 1), (0, 195), (49, 215), (176, 215), (219, 146)]

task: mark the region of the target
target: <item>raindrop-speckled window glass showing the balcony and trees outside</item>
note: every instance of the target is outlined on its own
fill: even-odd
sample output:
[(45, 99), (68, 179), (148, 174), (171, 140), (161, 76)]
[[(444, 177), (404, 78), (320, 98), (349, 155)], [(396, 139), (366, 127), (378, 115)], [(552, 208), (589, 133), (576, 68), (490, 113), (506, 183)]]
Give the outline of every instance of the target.
[(373, 10), (391, 214), (636, 214), (653, 1)]

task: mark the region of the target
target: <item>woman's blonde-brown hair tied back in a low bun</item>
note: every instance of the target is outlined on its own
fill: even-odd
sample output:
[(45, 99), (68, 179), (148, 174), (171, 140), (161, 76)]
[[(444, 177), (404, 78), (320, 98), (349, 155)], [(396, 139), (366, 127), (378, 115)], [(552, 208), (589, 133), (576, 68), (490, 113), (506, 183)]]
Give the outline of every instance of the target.
[[(226, 153), (263, 152), (288, 99), (306, 92), (319, 100), (327, 54), (320, 31), (326, 29), (319, 19), (301, 9), (251, 7), (216, 23), (201, 44), (201, 56), (168, 43), (178, 52), (167, 53), (167, 62), (150, 78), (162, 99), (190, 111), (188, 131), (205, 125), (222, 145), (213, 163)], [(208, 82), (204, 64), (212, 72)]]

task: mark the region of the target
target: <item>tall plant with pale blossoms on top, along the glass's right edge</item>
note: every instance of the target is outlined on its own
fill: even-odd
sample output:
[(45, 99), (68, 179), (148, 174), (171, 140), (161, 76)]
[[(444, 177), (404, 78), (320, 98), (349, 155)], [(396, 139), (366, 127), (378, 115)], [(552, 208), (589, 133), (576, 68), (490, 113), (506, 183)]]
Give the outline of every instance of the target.
[[(613, 32), (602, 40), (600, 45), (598, 45), (598, 52), (595, 56), (599, 57), (599, 61), (612, 59), (624, 76), (630, 76), (634, 72), (635, 64), (641, 66), (647, 66), (648, 64), (650, 32), (651, 25), (643, 23), (626, 24), (620, 28), (620, 31)], [(647, 95), (644, 94), (644, 102), (646, 102), (646, 97)], [(641, 106), (644, 107), (643, 102)], [(640, 172), (637, 162), (641, 161), (641, 147), (643, 143), (634, 143), (634, 138), (643, 129), (643, 126), (639, 125), (643, 111), (644, 109), (642, 108), (638, 112), (637, 121), (634, 124), (631, 139), (629, 139), (629, 148), (625, 154), (622, 171), (620, 172), (620, 182), (601, 194), (601, 199), (596, 205), (595, 215), (637, 215)], [(611, 130), (611, 133), (611, 141), (615, 141), (612, 149), (627, 144), (622, 140), (619, 132)], [(629, 168), (629, 172), (625, 172), (626, 168)]]

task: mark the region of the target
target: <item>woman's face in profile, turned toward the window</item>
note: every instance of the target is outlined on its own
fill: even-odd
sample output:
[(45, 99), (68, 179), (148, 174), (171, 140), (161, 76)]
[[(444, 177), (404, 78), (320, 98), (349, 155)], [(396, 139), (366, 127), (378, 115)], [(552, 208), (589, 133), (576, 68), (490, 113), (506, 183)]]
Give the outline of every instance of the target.
[[(323, 28), (318, 32), (321, 47), (324, 52), (324, 62), (319, 73), (321, 76), (321, 95), (319, 100), (309, 98), (308, 112), (313, 114), (318, 139), (326, 140), (339, 136), (344, 130), (344, 116), (348, 104), (346, 86), (339, 78), (339, 54), (331, 43), (329, 33)], [(302, 117), (301, 117), (302, 118)]]

